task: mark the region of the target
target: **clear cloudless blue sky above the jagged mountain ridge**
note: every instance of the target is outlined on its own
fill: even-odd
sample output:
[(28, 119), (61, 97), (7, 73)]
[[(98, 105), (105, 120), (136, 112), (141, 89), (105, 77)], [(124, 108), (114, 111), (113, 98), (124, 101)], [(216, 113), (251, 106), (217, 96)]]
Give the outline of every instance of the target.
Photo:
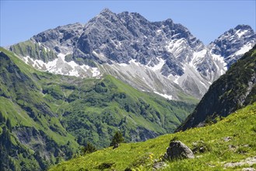
[(69, 23), (87, 23), (104, 8), (139, 12), (149, 21), (173, 19), (209, 44), (238, 24), (256, 30), (256, 1), (22, 1), (1, 0), (0, 46), (28, 40), (33, 35)]

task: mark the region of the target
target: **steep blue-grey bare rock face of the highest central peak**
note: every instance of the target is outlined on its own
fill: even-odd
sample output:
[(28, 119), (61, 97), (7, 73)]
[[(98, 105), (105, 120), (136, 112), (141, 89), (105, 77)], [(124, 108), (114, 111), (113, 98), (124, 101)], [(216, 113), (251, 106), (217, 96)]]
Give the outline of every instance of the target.
[[(158, 64), (157, 58), (163, 58), (166, 60), (163, 75), (182, 75), (182, 62), (188, 53), (204, 47), (187, 28), (174, 24), (171, 19), (150, 23), (133, 12), (115, 14), (104, 9), (86, 24), (84, 30), (75, 48), (75, 56), (109, 64), (111, 61), (128, 64), (135, 59), (150, 66)], [(170, 41), (180, 39), (184, 39), (185, 46), (181, 51), (170, 52), (167, 49)]]

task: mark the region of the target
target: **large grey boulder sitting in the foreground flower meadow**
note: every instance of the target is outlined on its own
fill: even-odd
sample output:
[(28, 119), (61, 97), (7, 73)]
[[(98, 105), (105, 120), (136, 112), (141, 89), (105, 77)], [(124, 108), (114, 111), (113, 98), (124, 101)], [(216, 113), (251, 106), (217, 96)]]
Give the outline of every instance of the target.
[(195, 156), (191, 149), (181, 141), (171, 141), (164, 158), (170, 160), (194, 159)]

